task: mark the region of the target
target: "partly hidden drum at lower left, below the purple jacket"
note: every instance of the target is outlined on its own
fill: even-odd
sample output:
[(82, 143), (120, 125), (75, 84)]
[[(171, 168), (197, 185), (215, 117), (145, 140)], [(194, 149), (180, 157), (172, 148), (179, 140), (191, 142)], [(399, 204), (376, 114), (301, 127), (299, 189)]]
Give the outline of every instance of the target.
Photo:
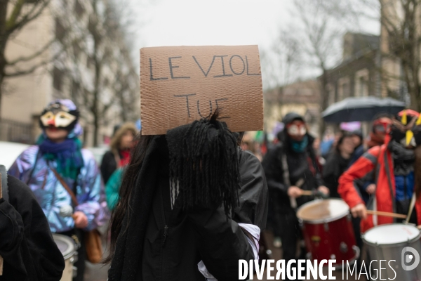
[(60, 249), (63, 257), (65, 258), (65, 270), (63, 271), (62, 281), (72, 281), (73, 277), (76, 276), (76, 268), (73, 263), (77, 259), (76, 245), (72, 238), (65, 235), (53, 233), (53, 239)]

